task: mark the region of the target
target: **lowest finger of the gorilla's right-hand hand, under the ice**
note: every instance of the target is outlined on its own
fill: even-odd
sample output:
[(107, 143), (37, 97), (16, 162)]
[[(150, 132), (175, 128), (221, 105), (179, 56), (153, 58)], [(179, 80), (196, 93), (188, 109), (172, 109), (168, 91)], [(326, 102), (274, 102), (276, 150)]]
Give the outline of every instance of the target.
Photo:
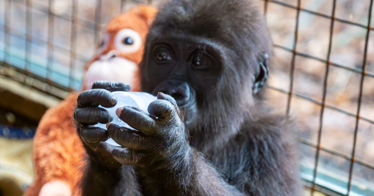
[(143, 166), (141, 160), (145, 155), (125, 148), (115, 148), (112, 156), (122, 165)]

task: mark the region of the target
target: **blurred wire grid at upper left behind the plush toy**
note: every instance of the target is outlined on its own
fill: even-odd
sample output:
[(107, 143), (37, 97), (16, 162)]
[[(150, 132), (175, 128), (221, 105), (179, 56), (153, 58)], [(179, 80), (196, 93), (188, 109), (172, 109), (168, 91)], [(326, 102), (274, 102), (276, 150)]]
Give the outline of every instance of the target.
[[(26, 17), (25, 17), (25, 33), (18, 31), (14, 28), (11, 28), (11, 16), (10, 16), (10, 8), (11, 8), (11, 1), (17, 2), (18, 4), (26, 6)], [(152, 0), (120, 0), (120, 11), (122, 12), (126, 9), (126, 5), (129, 2), (132, 3), (142, 3), (142, 4), (152, 4)], [(86, 62), (88, 59), (76, 52), (77, 50), (77, 25), (82, 25), (83, 27), (89, 28), (94, 30), (95, 36), (94, 40), (95, 43), (99, 39), (99, 33), (103, 24), (101, 24), (101, 6), (102, 0), (96, 0), (95, 6), (95, 21), (90, 21), (84, 18), (79, 18), (77, 15), (77, 2), (78, 0), (71, 0), (72, 7), (71, 7), (71, 17), (67, 14), (57, 15), (51, 11), (51, 7), (54, 6), (54, 0), (48, 0), (48, 4), (43, 5), (36, 1), (32, 0), (4, 0), (4, 60), (0, 61), (0, 68), (7, 69), (11, 68), (16, 71), (16, 78), (17, 80), (21, 80), (24, 82), (25, 85), (30, 85), (34, 88), (39, 90), (45, 91), (46, 93), (52, 94), (59, 98), (64, 98), (66, 93), (61, 91), (74, 91), (78, 90), (77, 88), (73, 87), (74, 82), (74, 70), (76, 66), (76, 60), (81, 62)], [(31, 21), (31, 12), (30, 10), (38, 10), (43, 13), (48, 14), (48, 36), (47, 41), (43, 40), (39, 37), (33, 36), (31, 33), (32, 21)], [(61, 18), (65, 21), (71, 22), (71, 29), (70, 29), (70, 49), (66, 49), (62, 46), (56, 45), (53, 43), (53, 35), (54, 35), (54, 22), (55, 18)], [(8, 63), (9, 61), (9, 47), (10, 47), (10, 36), (17, 37), (18, 39), (25, 40), (25, 68), (20, 69), (19, 67), (13, 66), (12, 64)], [(30, 71), (30, 53), (31, 53), (31, 41), (39, 43), (40, 45), (47, 45), (47, 74), (46, 76), (40, 76), (37, 73), (32, 73)], [(69, 84), (67, 86), (61, 85), (58, 82), (53, 81), (52, 78), (52, 70), (53, 70), (53, 54), (54, 51), (60, 54), (68, 54), (70, 56), (70, 63), (69, 63)], [(3, 72), (1, 72), (3, 73)], [(12, 72), (13, 75), (14, 72)], [(21, 74), (21, 76), (20, 76)], [(5, 73), (2, 75), (9, 74)], [(20, 79), (21, 78), (21, 79)], [(37, 80), (37, 82), (35, 82)]]

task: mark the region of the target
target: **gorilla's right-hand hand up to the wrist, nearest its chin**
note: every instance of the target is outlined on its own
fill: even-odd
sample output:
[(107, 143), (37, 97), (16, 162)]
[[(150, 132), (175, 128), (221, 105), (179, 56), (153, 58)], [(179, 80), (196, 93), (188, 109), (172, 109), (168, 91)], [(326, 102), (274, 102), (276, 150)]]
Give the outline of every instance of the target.
[(186, 128), (175, 99), (159, 93), (150, 103), (150, 115), (134, 107), (117, 109), (118, 117), (136, 130), (107, 125), (108, 135), (128, 148), (113, 150), (114, 159), (124, 165), (147, 168), (170, 168), (188, 151)]

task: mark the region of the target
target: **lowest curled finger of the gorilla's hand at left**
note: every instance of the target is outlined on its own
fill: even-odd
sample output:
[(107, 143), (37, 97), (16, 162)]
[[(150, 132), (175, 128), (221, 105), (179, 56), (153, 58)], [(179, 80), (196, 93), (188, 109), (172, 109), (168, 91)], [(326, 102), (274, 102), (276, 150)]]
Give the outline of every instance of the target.
[(80, 136), (89, 144), (98, 144), (107, 141), (109, 136), (105, 129), (99, 127), (85, 127), (81, 129)]

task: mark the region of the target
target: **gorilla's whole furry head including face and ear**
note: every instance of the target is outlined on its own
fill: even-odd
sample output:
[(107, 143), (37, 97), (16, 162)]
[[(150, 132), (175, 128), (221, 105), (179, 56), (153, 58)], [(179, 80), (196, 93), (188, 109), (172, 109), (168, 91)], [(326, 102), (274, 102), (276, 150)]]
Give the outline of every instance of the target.
[(142, 90), (173, 96), (185, 110), (191, 135), (237, 130), (263, 97), (257, 91), (267, 78), (271, 42), (253, 6), (248, 1), (173, 1), (160, 9), (148, 33), (140, 64)]

